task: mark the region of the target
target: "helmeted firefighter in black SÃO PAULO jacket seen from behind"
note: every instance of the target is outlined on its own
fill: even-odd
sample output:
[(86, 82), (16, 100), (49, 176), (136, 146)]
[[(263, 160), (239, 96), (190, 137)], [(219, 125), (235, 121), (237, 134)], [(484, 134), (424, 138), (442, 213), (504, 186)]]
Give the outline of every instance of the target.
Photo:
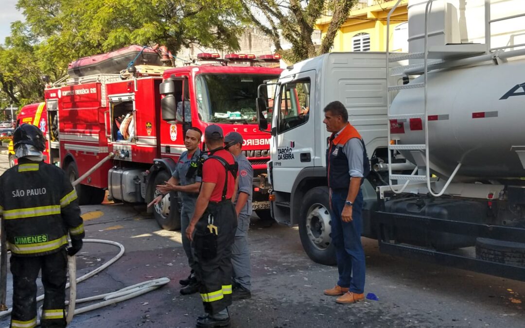
[[(65, 327), (67, 255), (82, 248), (85, 235), (77, 194), (64, 171), (43, 162), (45, 137), (35, 125), (20, 125), (13, 143), (18, 165), (0, 176), (0, 215), (13, 273), (10, 326), (36, 326), (36, 279), (41, 269), (41, 326)], [(66, 250), (68, 232), (72, 246)]]

